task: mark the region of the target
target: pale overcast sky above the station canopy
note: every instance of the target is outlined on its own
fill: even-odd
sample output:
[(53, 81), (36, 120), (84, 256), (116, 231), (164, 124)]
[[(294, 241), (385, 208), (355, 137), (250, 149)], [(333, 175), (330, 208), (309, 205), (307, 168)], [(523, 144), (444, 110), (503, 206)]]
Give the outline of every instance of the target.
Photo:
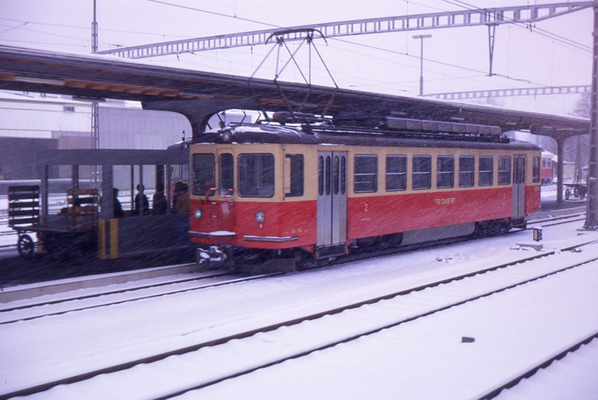
[[(435, 13), (469, 8), (548, 4), (536, 0), (97, 0), (100, 50), (222, 33), (335, 22), (370, 17)], [(177, 7), (182, 6), (182, 7)], [(91, 52), (93, 0), (0, 0), (0, 44)], [(571, 13), (526, 28), (496, 29), (493, 72), (489, 72), (488, 29), (432, 29), (407, 33), (321, 39), (316, 47), (332, 77), (343, 88), (388, 94), (419, 94), (420, 42), (425, 40), (425, 93), (492, 88), (589, 85), (593, 11)], [(556, 39), (549, 35), (558, 35)], [(298, 42), (289, 43), (292, 50)], [(145, 59), (178, 68), (249, 76), (270, 45)], [(281, 53), (286, 62), (288, 55)], [(307, 47), (297, 54), (307, 72)], [(276, 51), (257, 77), (274, 78)], [(289, 66), (280, 77), (300, 81)], [(312, 81), (332, 86), (318, 59), (312, 58)], [(500, 98), (507, 108), (568, 114), (575, 96)]]

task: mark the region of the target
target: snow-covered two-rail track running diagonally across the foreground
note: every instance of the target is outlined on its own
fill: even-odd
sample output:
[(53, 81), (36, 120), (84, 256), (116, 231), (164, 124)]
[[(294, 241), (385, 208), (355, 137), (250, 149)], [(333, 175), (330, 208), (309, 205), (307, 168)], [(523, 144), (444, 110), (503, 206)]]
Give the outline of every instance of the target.
[[(575, 246), (575, 248), (578, 247), (579, 246)], [(301, 358), (318, 350), (330, 349), (341, 343), (349, 343), (358, 338), (376, 334), (383, 329), (389, 329), (407, 322), (422, 319), (423, 317), (431, 316), (432, 314), (452, 309), (453, 307), (461, 306), (466, 303), (471, 303), (472, 301), (481, 298), (487, 298), (490, 297), (490, 295), (505, 292), (509, 289), (525, 285), (526, 283), (554, 276), (554, 274), (568, 271), (579, 267), (580, 265), (587, 264), (588, 262), (598, 260), (596, 257), (586, 257), (580, 262), (566, 265), (565, 267), (557, 266), (557, 264), (561, 263), (564, 258), (562, 257), (562, 252), (570, 250), (572, 250), (572, 248), (564, 248), (559, 251), (528, 257), (516, 262), (494, 265), (481, 271), (474, 271), (472, 273), (455, 276), (428, 285), (413, 287), (391, 294), (368, 298), (367, 300), (348, 304), (343, 307), (335, 307), (334, 309), (296, 317), (279, 323), (248, 329), (215, 340), (196, 343), (192, 346), (185, 346), (168, 352), (154, 354), (148, 357), (113, 365), (111, 367), (99, 368), (95, 371), (84, 372), (77, 376), (63, 378), (35, 387), (7, 393), (2, 395), (2, 398), (39, 393), (59, 384), (68, 384), (68, 387), (75, 387), (73, 385), (80, 381), (86, 381), (85, 387), (89, 388), (89, 384), (93, 385), (93, 377), (102, 374), (118, 374), (120, 375), (120, 378), (117, 379), (124, 381), (139, 381), (139, 379), (135, 378), (134, 374), (138, 374), (141, 369), (132, 367), (148, 364), (142, 370), (146, 370), (148, 367), (158, 369), (170, 368), (168, 366), (171, 365), (173, 361), (173, 358), (170, 358), (171, 356), (177, 356), (176, 359), (179, 359), (180, 357), (181, 360), (183, 360), (183, 358), (188, 358), (187, 361), (183, 360), (182, 362), (191, 362), (196, 366), (212, 366), (214, 365), (212, 364), (212, 361), (215, 361), (216, 359), (227, 359), (227, 352), (238, 352), (239, 343), (242, 343), (242, 346), (245, 346), (248, 349), (252, 349), (256, 343), (287, 344), (283, 351), (283, 355), (276, 354), (276, 356), (274, 356), (271, 352), (266, 352), (268, 356), (264, 359), (263, 349), (258, 351), (257, 354), (254, 352), (242, 352), (242, 355), (240, 356), (241, 359), (239, 359), (238, 356), (235, 358), (235, 365), (232, 369), (231, 366), (228, 366), (222, 367), (224, 369), (222, 371), (217, 371), (217, 373), (211, 369), (209, 373), (204, 371), (206, 374), (203, 377), (196, 378), (193, 384), (187, 384), (183, 389), (165, 389), (163, 392), (160, 392), (160, 394), (155, 395), (156, 398), (170, 398), (190, 390), (202, 389), (225, 380), (230, 380), (231, 378), (240, 377), (253, 371), (280, 364), (289, 359)], [(576, 255), (579, 258), (579, 255)], [(538, 268), (533, 264), (537, 264), (539, 258), (545, 257), (559, 258), (559, 260), (553, 262), (555, 265), (554, 268), (550, 268), (548, 271), (538, 271)], [(504, 271), (515, 271), (514, 268), (517, 270), (517, 273), (505, 274)], [(501, 271), (503, 272), (501, 273)], [(454, 290), (454, 285), (463, 286), (464, 282), (468, 281), (468, 279), (474, 279), (474, 277), (476, 279), (475, 285), (470, 284), (469, 286), (474, 286), (476, 288), (475, 293), (469, 290), (466, 292), (463, 292), (460, 289)], [(441, 296), (440, 302), (438, 301), (438, 298), (434, 300), (435, 291), (453, 292), (453, 295), (451, 295), (452, 300), (449, 301), (443, 296)], [(424, 300), (413, 300), (412, 298), (414, 296), (423, 297)], [(436, 303), (435, 306), (430, 305), (431, 299), (432, 303)], [(424, 303), (425, 305), (422, 306)], [(406, 304), (408, 304), (408, 307), (405, 307)], [(368, 309), (368, 307), (370, 308)], [(411, 310), (411, 312), (408, 314), (402, 312), (403, 316), (401, 318), (396, 318), (396, 310)], [(359, 314), (364, 312), (369, 315), (365, 318), (366, 320), (375, 320), (375, 323), (366, 324), (368, 325), (367, 329), (364, 328), (364, 324), (355, 323), (355, 318), (359, 318)], [(371, 314), (375, 317), (371, 317)], [(399, 312), (399, 314), (401, 313)], [(337, 328), (335, 329), (334, 326)], [(348, 329), (338, 328), (347, 326), (349, 327)], [(281, 329), (283, 327), (286, 328)], [(299, 333), (297, 332), (297, 329), (300, 331)], [(330, 332), (331, 335), (326, 336), (324, 339), (322, 337), (322, 332)], [(292, 338), (287, 337), (286, 335), (309, 338), (307, 339), (309, 343), (306, 343), (306, 340), (302, 340), (300, 344), (295, 346)], [(236, 343), (236, 346), (232, 346), (231, 343)], [(293, 347), (292, 351), (289, 350), (289, 343), (293, 344), (291, 347), (295, 346), (296, 348)], [(261, 356), (259, 354), (260, 352)], [(228, 356), (230, 356), (230, 354)], [(201, 361), (197, 359), (198, 357)], [(170, 361), (165, 362), (166, 359), (170, 359)], [(161, 365), (164, 364), (166, 364), (166, 366), (161, 367)], [(216, 363), (216, 370), (218, 370), (218, 363)], [(105, 382), (105, 378), (106, 377), (102, 377), (101, 381)], [(112, 386), (119, 387), (119, 385)], [(497, 389), (494, 389), (494, 391), (496, 390)]]

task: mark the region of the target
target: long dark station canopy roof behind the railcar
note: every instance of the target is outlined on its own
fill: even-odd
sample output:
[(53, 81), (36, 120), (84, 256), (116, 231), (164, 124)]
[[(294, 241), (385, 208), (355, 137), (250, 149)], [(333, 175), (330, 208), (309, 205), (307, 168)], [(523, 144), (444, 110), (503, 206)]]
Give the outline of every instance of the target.
[(0, 45), (0, 89), (66, 94), (91, 101), (135, 100), (145, 109), (178, 112), (194, 135), (227, 109), (299, 111), (344, 120), (385, 117), (450, 121), (558, 136), (589, 133), (586, 118), (444, 100), (391, 96), (148, 65), (114, 56), (56, 53)]

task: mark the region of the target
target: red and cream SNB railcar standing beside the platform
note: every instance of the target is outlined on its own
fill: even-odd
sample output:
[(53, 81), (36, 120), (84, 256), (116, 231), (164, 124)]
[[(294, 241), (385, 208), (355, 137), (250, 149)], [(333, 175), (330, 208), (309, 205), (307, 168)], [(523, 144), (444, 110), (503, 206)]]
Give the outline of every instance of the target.
[(540, 208), (539, 148), (484, 133), (489, 127), (448, 126), (252, 125), (203, 134), (190, 145), (199, 261), (336, 257), (378, 242), (523, 227)]

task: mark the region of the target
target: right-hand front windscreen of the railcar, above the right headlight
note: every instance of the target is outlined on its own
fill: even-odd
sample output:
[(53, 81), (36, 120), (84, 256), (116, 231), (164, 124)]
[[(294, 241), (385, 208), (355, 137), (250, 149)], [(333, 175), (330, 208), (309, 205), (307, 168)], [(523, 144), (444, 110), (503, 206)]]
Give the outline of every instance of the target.
[(240, 154), (239, 196), (274, 196), (274, 155)]

